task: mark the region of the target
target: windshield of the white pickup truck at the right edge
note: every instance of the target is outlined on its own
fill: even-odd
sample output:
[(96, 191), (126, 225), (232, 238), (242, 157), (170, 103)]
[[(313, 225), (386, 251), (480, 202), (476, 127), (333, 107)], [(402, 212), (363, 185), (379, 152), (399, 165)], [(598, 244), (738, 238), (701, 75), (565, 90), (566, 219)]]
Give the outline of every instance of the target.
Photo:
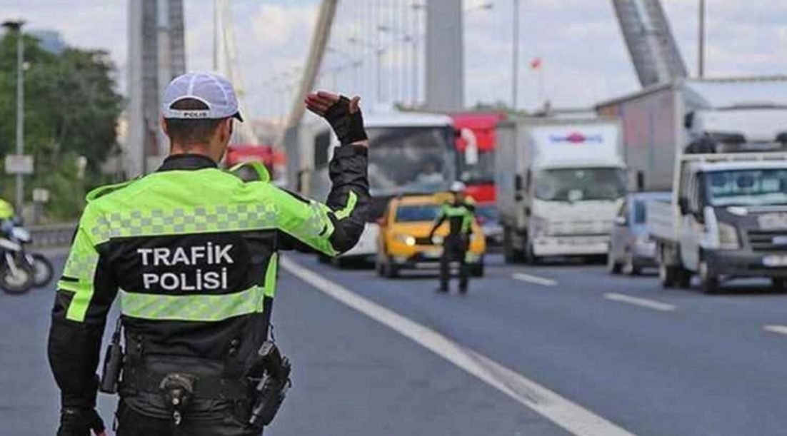
[(708, 172), (705, 186), (714, 206), (787, 205), (787, 168)]

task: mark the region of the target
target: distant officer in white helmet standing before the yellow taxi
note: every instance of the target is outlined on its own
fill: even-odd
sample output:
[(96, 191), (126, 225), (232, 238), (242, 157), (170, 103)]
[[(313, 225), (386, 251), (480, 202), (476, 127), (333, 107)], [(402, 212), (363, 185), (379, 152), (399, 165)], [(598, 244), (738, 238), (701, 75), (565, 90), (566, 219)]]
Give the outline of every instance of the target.
[(451, 263), (459, 262), (459, 291), (462, 294), (467, 293), (470, 272), (466, 257), (467, 249), (470, 246), (470, 235), (473, 231), (473, 220), (475, 220), (475, 201), (465, 196), (464, 190), (466, 189), (467, 187), (461, 182), (454, 182), (451, 185), (453, 198), (442, 205), (429, 235), (434, 239), (434, 233), (438, 228), (445, 221), (449, 222), (449, 234), (443, 238), (442, 242), (439, 292), (449, 291)]

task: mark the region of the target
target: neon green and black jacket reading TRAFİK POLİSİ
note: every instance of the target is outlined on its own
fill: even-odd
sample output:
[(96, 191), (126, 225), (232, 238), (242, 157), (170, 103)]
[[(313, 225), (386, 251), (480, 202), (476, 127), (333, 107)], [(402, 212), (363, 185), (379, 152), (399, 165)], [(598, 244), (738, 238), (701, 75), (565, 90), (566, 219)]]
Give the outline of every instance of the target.
[(94, 405), (116, 297), (138, 364), (242, 377), (268, 337), (279, 250), (332, 256), (360, 238), (367, 161), (363, 146), (338, 148), (324, 204), (194, 154), (89, 194), (52, 312), (49, 357), (63, 405)]

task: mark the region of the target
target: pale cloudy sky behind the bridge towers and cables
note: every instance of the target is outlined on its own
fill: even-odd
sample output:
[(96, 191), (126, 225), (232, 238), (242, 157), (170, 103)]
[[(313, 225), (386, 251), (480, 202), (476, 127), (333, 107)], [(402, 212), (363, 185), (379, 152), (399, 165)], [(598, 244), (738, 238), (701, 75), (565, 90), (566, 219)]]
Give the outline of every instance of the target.
[[(108, 50), (119, 68), (121, 87), (127, 65), (127, 1), (2, 0), (0, 20), (21, 17), (29, 28), (61, 31), (72, 46)], [(359, 16), (370, 2), (342, 0), (323, 63), (321, 85), (373, 101), (372, 50), (352, 45), (359, 35)], [(412, 4), (414, 0), (400, 0)], [(423, 1), (423, 0), (420, 0)], [(187, 65), (212, 68), (212, 2), (184, 0), (187, 11)], [(509, 102), (512, 68), (512, 0), (464, 0), (465, 102)], [(490, 2), (491, 9), (478, 6)], [(785, 0), (707, 0), (708, 76), (775, 75), (787, 73), (787, 2)], [(699, 0), (662, 0), (683, 58), (696, 74), (697, 8)], [(546, 99), (553, 107), (586, 107), (636, 91), (640, 86), (626, 51), (610, 0), (521, 0), (519, 102), (534, 109)], [(309, 50), (318, 0), (231, 0), (239, 68), (246, 106), (254, 116), (272, 116), (283, 108)], [(412, 12), (417, 16), (416, 12)], [(419, 33), (409, 21), (385, 23)], [(372, 26), (367, 26), (371, 28)], [(423, 29), (423, 27), (421, 27)], [(423, 30), (422, 30), (423, 31)], [(361, 33), (361, 36), (366, 34)], [(371, 34), (369, 34), (371, 35)], [(412, 44), (390, 34), (379, 38), (389, 49), (382, 80), (390, 83), (384, 100), (412, 94)], [(386, 40), (385, 38), (388, 38)], [(364, 53), (365, 51), (365, 53)], [(350, 57), (362, 58), (360, 69), (347, 68)], [(540, 71), (530, 61), (541, 58)], [(419, 60), (423, 66), (423, 59)], [(335, 68), (345, 67), (332, 73)], [(404, 75), (404, 76), (401, 76)], [(394, 78), (401, 80), (393, 81)], [(409, 80), (405, 85), (405, 81)], [(401, 83), (401, 84), (393, 84)], [(122, 90), (121, 90), (122, 91)], [(423, 89), (420, 90), (423, 92)]]

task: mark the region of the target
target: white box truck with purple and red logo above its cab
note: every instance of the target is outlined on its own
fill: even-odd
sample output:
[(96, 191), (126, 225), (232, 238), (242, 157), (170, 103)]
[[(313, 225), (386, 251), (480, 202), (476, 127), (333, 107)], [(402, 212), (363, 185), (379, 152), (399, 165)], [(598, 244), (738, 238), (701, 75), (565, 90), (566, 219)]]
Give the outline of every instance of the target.
[(612, 219), (626, 194), (619, 120), (506, 120), (497, 139), (506, 261), (607, 253)]

